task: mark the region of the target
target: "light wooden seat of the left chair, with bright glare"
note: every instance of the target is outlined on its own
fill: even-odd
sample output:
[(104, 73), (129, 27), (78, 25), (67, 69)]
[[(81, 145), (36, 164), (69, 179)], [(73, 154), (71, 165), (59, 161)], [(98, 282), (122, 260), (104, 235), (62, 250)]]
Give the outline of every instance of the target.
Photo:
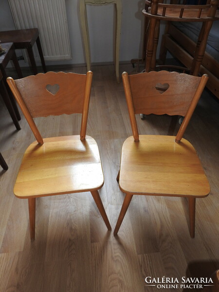
[(79, 135), (43, 139), (24, 153), (14, 193), (34, 198), (98, 190), (104, 176), (98, 146), (93, 138)]

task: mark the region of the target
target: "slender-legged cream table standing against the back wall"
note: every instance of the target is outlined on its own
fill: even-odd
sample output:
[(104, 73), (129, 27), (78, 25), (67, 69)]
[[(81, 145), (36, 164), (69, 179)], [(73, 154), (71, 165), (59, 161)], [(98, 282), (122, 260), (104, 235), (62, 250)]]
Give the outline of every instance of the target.
[(116, 71), (116, 79), (119, 83), (119, 48), (120, 48), (120, 34), (121, 34), (121, 20), (122, 20), (122, 0), (80, 0), (80, 17), (81, 17), (81, 26), (85, 46), (85, 55), (87, 62), (88, 71), (91, 70), (91, 57), (90, 57), (90, 41), (89, 41), (89, 32), (88, 32), (88, 19), (86, 4), (92, 5), (107, 5), (115, 4), (116, 11), (116, 34), (115, 34), (115, 49), (114, 49), (114, 64)]

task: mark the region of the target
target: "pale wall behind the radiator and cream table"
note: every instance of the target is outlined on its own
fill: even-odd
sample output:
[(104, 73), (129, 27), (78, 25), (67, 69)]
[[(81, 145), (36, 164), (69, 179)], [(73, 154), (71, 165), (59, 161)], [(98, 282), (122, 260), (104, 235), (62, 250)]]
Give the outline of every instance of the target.
[[(123, 16), (121, 29), (120, 61), (138, 58), (142, 52), (144, 0), (122, 0)], [(72, 60), (47, 62), (54, 64), (85, 63), (84, 47), (79, 17), (79, 0), (66, 0)], [(87, 5), (89, 34), (91, 43), (91, 62), (113, 61), (114, 6)], [(0, 30), (15, 29), (8, 0), (0, 0)], [(20, 52), (21, 53), (21, 52)], [(19, 54), (19, 52), (18, 52)], [(17, 55), (18, 55), (17, 54)], [(21, 66), (26, 66), (22, 63)]]

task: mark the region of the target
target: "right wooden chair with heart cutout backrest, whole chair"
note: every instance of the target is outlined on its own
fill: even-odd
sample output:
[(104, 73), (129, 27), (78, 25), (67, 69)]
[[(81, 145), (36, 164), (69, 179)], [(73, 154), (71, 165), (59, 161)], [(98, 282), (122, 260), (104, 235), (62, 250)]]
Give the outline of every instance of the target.
[[(195, 236), (196, 198), (206, 197), (210, 186), (194, 147), (183, 139), (184, 131), (207, 82), (167, 71), (122, 74), (133, 136), (123, 144), (120, 189), (126, 193), (114, 230), (118, 233), (133, 195), (186, 197), (190, 235)], [(184, 116), (177, 136), (139, 135), (135, 114)]]

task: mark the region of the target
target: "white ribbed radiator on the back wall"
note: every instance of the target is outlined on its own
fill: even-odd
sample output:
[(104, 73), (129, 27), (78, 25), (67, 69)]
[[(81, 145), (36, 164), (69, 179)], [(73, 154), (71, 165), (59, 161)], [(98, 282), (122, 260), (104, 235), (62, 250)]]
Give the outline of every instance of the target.
[[(17, 29), (35, 27), (39, 29), (45, 60), (69, 60), (72, 58), (65, 0), (8, 1)], [(36, 60), (39, 60), (38, 51), (35, 48), (34, 54)]]

